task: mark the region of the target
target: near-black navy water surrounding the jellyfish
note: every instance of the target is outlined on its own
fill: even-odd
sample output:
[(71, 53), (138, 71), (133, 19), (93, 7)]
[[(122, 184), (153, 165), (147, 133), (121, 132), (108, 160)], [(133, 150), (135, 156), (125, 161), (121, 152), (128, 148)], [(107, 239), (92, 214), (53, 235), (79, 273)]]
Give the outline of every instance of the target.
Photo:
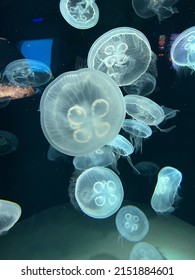
[[(181, 0), (176, 4), (179, 14), (162, 21), (157, 17), (142, 19), (132, 9), (130, 0), (97, 0), (100, 19), (88, 30), (70, 26), (62, 17), (59, 1), (0, 1), (0, 70), (11, 61), (23, 58), (17, 49), (21, 40), (53, 38), (51, 70), (54, 77), (75, 69), (78, 56), (86, 58), (92, 43), (104, 32), (122, 26), (142, 31), (158, 55), (159, 36), (181, 33), (195, 25), (195, 3)], [(34, 18), (43, 18), (33, 22)], [(168, 46), (167, 46), (168, 47)], [(144, 142), (142, 154), (132, 161), (152, 161), (167, 165), (183, 174), (180, 201), (174, 215), (195, 225), (195, 75), (180, 76), (171, 68), (167, 56), (158, 59), (157, 90), (151, 99), (159, 105), (179, 109), (180, 113), (166, 123), (176, 124), (169, 133), (157, 131)], [(42, 88), (43, 90), (44, 88)], [(0, 109), (0, 130), (14, 133), (19, 139), (16, 152), (0, 157), (0, 198), (15, 201), (22, 207), (25, 219), (43, 209), (69, 201), (69, 179), (74, 171), (72, 158), (66, 162), (47, 159), (49, 144), (40, 127), (40, 94), (12, 101)], [(125, 159), (118, 169), (124, 185), (125, 198), (150, 203), (155, 180), (137, 176)]]

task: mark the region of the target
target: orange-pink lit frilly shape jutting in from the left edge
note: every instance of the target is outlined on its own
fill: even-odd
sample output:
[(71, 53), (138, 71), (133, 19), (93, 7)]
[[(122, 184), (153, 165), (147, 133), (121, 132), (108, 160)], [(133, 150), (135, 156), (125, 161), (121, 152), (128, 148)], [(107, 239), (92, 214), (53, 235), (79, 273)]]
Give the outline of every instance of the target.
[(20, 99), (39, 93), (38, 89), (32, 87), (13, 86), (0, 84), (0, 102), (9, 102), (12, 99)]

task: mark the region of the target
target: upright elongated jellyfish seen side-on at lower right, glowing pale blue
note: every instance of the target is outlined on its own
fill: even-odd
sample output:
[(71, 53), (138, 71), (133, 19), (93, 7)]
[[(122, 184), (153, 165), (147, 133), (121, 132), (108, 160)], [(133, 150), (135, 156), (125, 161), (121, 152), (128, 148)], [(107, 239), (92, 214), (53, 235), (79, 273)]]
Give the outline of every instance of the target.
[(178, 200), (178, 188), (182, 173), (174, 167), (166, 166), (158, 173), (158, 180), (151, 198), (151, 206), (157, 213), (174, 211), (174, 203)]

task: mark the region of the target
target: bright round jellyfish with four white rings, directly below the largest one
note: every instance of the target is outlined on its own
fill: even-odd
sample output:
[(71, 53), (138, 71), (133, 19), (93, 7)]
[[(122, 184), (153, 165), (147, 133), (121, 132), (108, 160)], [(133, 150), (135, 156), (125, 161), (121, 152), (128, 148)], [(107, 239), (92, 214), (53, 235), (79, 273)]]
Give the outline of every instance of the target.
[(121, 206), (124, 192), (119, 177), (105, 167), (92, 167), (76, 181), (75, 198), (81, 210), (92, 218), (103, 219)]

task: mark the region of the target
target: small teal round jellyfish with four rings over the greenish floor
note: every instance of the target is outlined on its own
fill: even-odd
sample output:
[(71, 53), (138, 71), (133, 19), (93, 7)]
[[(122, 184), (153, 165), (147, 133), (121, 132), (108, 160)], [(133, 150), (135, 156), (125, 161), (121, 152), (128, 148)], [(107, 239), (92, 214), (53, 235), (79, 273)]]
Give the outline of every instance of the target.
[(120, 208), (115, 223), (120, 235), (128, 241), (142, 240), (149, 230), (149, 222), (145, 214), (132, 205)]

